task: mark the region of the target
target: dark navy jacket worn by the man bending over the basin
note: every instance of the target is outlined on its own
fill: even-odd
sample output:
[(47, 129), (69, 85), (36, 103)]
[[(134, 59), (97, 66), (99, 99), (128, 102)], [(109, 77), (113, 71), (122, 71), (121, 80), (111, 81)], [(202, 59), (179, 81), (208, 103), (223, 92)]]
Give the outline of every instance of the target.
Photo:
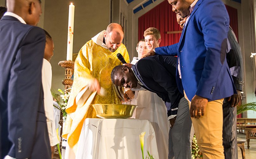
[(183, 97), (176, 84), (176, 62), (176, 57), (156, 55), (140, 59), (132, 66), (143, 88), (156, 93), (166, 104), (170, 103), (170, 107), (166, 105), (168, 116), (177, 114)]

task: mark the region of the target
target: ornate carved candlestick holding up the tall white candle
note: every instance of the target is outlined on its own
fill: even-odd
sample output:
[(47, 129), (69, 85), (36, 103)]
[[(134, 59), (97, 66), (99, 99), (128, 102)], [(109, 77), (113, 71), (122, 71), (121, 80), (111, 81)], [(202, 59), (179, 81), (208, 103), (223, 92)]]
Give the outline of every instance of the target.
[[(74, 72), (74, 61), (59, 61), (58, 65), (65, 68), (65, 79), (62, 80), (62, 84), (65, 86), (65, 93), (66, 90), (68, 88), (70, 88), (73, 84), (73, 80), (71, 79), (73, 72)], [(61, 138), (61, 142), (59, 144), (59, 148), (60, 148), (60, 152), (62, 149), (62, 127), (63, 127), (63, 114), (60, 112), (60, 119), (59, 119), (59, 125), (60, 127), (60, 138)], [(53, 155), (54, 159), (59, 159), (59, 152), (58, 152), (58, 148), (55, 148), (54, 151), (54, 155)]]

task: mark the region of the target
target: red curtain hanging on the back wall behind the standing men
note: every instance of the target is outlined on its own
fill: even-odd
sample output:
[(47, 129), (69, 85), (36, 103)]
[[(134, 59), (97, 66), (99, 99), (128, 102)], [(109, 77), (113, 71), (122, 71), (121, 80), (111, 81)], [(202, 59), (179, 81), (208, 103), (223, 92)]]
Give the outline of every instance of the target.
[[(237, 9), (226, 5), (232, 27), (238, 39)], [(167, 34), (167, 31), (181, 31), (177, 24), (176, 14), (168, 1), (163, 1), (138, 19), (138, 41), (144, 38), (143, 33), (149, 27), (157, 28), (161, 33), (160, 46), (172, 45), (179, 42), (181, 33)]]

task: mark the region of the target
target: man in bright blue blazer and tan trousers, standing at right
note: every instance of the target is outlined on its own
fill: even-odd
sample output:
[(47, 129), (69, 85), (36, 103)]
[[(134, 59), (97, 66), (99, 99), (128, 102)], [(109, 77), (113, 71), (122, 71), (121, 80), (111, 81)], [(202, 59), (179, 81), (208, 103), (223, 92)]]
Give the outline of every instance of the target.
[(223, 98), (237, 93), (226, 62), (229, 17), (221, 0), (168, 0), (188, 16), (179, 43), (145, 56), (178, 56), (176, 79), (190, 103), (190, 116), (203, 158), (224, 158)]

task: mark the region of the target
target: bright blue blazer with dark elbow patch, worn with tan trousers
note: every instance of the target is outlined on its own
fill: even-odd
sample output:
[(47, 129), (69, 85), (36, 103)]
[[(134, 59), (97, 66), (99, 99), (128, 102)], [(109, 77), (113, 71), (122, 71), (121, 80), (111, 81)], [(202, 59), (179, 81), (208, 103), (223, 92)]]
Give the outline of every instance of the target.
[(159, 55), (178, 56), (180, 91), (191, 101), (194, 95), (209, 101), (236, 92), (226, 61), (229, 16), (221, 0), (199, 0), (183, 28), (177, 44), (156, 48)]

